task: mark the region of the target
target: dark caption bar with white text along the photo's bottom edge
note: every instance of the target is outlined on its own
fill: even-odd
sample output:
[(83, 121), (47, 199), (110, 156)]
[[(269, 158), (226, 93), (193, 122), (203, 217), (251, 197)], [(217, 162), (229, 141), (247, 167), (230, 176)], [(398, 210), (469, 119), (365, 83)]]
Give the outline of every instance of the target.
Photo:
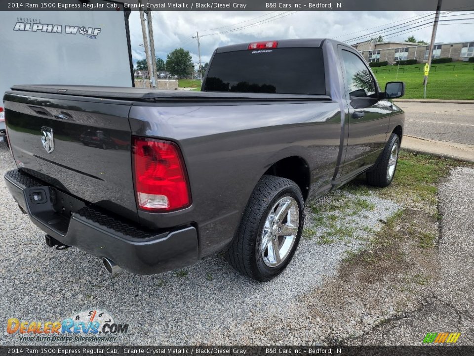
[(474, 346), (0, 346), (0, 355), (472, 356)]

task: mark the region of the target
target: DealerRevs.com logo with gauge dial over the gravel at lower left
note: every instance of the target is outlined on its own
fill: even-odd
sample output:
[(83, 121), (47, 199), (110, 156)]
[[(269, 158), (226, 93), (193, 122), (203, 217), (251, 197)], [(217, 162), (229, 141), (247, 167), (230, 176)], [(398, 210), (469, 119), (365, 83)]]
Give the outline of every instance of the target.
[(6, 332), (18, 335), (20, 341), (117, 341), (128, 332), (128, 324), (115, 322), (108, 313), (86, 310), (62, 321), (31, 321), (9, 318)]

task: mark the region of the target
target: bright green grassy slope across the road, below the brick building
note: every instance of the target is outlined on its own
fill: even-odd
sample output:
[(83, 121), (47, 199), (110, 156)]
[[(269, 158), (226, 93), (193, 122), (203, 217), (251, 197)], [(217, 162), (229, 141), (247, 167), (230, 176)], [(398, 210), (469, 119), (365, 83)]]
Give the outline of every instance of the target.
[[(380, 88), (387, 82), (405, 82), (405, 99), (423, 98), (424, 63), (399, 66), (374, 67)], [(453, 70), (454, 69), (454, 70)], [(474, 100), (474, 63), (453, 62), (431, 66), (426, 89), (427, 99)]]

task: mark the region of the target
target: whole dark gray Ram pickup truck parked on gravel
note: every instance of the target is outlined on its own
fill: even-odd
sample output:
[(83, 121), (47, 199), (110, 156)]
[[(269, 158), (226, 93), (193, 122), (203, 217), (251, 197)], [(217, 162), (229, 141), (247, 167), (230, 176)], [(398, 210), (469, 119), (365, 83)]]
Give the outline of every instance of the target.
[(264, 281), (290, 262), (306, 202), (366, 173), (391, 183), (404, 113), (329, 39), (217, 48), (200, 92), (15, 86), (5, 174), (49, 246), (153, 274), (220, 251)]

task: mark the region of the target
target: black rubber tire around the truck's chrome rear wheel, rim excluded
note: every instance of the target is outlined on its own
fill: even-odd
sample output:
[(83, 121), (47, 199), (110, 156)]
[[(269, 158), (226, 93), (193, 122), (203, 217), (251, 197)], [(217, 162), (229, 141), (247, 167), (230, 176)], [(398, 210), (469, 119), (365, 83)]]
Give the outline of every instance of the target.
[[(290, 199), (288, 199), (288, 197)], [(282, 199), (293, 199), (291, 202), (296, 202), (299, 214), (298, 217), (295, 215), (295, 220), (298, 220), (298, 230), (292, 238), (294, 242), (287, 250), (288, 252), (285, 254), (284, 259), (282, 259), (276, 267), (270, 267), (265, 263), (264, 252), (261, 251), (263, 229), (267, 217), (271, 214), (271, 210), (275, 208), (275, 205)], [(294, 208), (292, 208), (295, 213), (296, 205), (293, 205)], [(227, 250), (226, 257), (232, 267), (238, 272), (257, 281), (270, 280), (281, 273), (293, 258), (296, 248), (298, 247), (304, 224), (303, 209), (303, 195), (301, 194), (299, 186), (294, 181), (275, 176), (263, 176), (250, 196), (240, 226)], [(284, 219), (288, 218), (286, 217)], [(283, 219), (281, 223), (283, 223)], [(288, 221), (286, 221), (286, 223), (288, 223)], [(292, 228), (296, 229), (296, 226)], [(291, 236), (293, 236), (293, 234)], [(280, 238), (286, 239), (286, 237), (280, 236), (276, 237), (276, 241), (280, 241)], [(271, 238), (268, 241), (270, 240)], [(281, 243), (281, 246), (283, 246), (282, 240), (278, 243)], [(265, 251), (267, 254), (269, 253), (268, 250)]]

